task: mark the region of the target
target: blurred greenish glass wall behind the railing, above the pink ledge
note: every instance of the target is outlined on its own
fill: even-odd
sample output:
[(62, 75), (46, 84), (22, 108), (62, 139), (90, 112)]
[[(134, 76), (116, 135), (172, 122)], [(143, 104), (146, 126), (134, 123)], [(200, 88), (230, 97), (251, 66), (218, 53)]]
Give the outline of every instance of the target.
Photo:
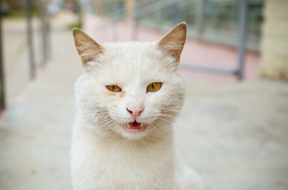
[[(236, 45), (238, 1), (232, 0), (79, 0), (84, 12), (107, 18), (137, 19), (140, 25), (168, 30), (186, 21), (189, 37)], [(247, 47), (259, 50), (265, 1), (251, 0), (247, 14)], [(126, 14), (125, 14), (126, 13)], [(119, 18), (119, 15), (122, 17)], [(125, 15), (125, 17), (123, 16)]]

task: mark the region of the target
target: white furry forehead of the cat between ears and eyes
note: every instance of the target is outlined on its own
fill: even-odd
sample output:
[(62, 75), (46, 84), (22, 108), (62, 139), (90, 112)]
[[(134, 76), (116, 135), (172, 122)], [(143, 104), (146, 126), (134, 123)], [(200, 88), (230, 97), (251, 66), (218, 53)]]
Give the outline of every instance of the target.
[(108, 43), (104, 47), (103, 74), (117, 83), (163, 81), (172, 72), (171, 58), (157, 50), (154, 42)]

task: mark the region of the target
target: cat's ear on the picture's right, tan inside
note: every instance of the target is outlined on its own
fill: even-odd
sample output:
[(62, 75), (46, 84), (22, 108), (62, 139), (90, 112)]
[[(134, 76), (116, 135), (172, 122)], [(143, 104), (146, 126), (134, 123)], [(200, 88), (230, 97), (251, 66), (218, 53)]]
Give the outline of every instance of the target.
[(185, 45), (187, 34), (187, 25), (185, 22), (179, 23), (172, 30), (170, 30), (163, 38), (156, 44), (159, 50), (167, 52), (174, 56), (179, 63), (181, 52)]

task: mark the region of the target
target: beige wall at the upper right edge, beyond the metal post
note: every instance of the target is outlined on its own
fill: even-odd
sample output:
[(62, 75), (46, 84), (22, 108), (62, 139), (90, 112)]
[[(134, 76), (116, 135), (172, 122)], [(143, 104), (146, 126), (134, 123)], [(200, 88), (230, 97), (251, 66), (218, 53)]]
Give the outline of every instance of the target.
[(288, 81), (288, 0), (267, 0), (260, 47), (260, 75)]

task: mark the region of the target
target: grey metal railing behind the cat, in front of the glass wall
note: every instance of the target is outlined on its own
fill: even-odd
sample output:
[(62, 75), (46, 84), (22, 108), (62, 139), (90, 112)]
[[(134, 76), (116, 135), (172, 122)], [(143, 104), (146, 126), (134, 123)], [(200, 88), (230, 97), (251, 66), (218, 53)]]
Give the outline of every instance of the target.
[[(196, 23), (198, 25), (197, 28), (197, 34), (196, 38), (202, 39), (202, 33), (203, 33), (203, 20), (205, 17), (205, 1), (207, 0), (199, 0), (198, 3), (198, 13), (196, 17)], [(213, 72), (218, 74), (227, 74), (227, 75), (234, 75), (236, 78), (238, 78), (238, 81), (243, 80), (243, 70), (245, 66), (245, 42), (246, 42), (246, 30), (247, 30), (247, 0), (236, 0), (238, 2), (238, 16), (237, 16), (237, 22), (238, 22), (238, 29), (237, 29), (237, 36), (238, 36), (238, 42), (236, 45), (237, 48), (237, 59), (236, 64), (233, 69), (225, 68), (225, 67), (212, 67), (212, 66), (203, 66), (200, 63), (198, 64), (187, 64), (187, 63), (181, 63), (180, 67), (185, 68), (188, 70), (199, 70), (203, 72)], [(112, 3), (119, 3), (122, 1), (113, 1)], [(150, 4), (151, 2), (154, 2)], [(153, 14), (155, 12), (158, 12), (160, 10), (163, 10), (165, 8), (174, 8), (174, 14), (172, 20), (176, 21), (176, 5), (179, 3), (191, 3), (189, 1), (185, 0), (169, 0), (165, 1), (144, 1), (143, 2), (137, 2), (134, 6), (134, 27), (132, 28), (132, 39), (136, 41), (138, 39), (138, 25), (139, 25), (139, 19)], [(103, 30), (103, 28), (106, 28), (108, 25), (114, 25), (114, 41), (116, 41), (117, 36), (115, 32), (116, 30), (116, 22), (123, 20), (123, 18), (127, 17), (126, 14), (122, 15), (116, 15), (110, 21), (105, 21), (101, 24), (99, 24), (96, 28), (96, 30)]]

